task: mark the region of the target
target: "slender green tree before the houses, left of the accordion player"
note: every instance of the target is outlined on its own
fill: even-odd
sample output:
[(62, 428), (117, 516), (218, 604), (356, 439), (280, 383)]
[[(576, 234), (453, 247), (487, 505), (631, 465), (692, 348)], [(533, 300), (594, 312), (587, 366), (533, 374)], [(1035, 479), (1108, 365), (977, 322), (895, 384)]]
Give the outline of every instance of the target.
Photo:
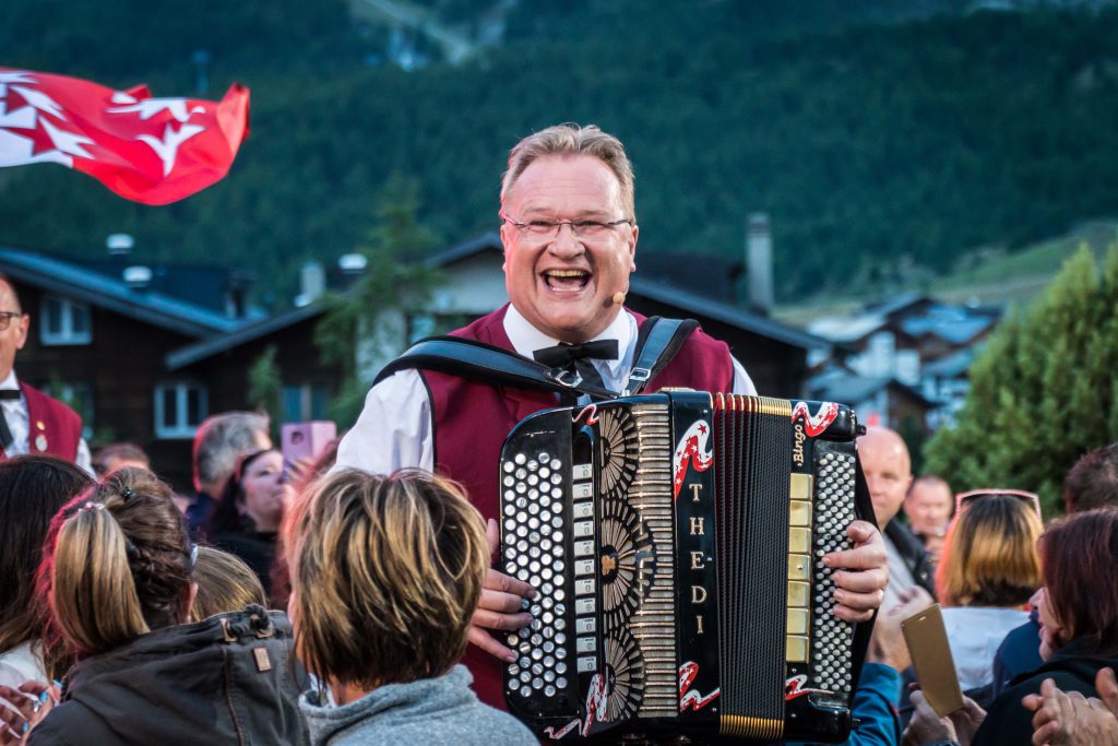
[(377, 224), (357, 253), (367, 264), (357, 282), (342, 293), (330, 293), (328, 311), (314, 330), (324, 361), (342, 370), (342, 386), (331, 405), (331, 416), (351, 423), (361, 412), (376, 370), (360, 365), (362, 357), (383, 359), (404, 351), (407, 318), (423, 312), (439, 273), (421, 261), (437, 243), (416, 221), (418, 187), (396, 174), (381, 191)]

